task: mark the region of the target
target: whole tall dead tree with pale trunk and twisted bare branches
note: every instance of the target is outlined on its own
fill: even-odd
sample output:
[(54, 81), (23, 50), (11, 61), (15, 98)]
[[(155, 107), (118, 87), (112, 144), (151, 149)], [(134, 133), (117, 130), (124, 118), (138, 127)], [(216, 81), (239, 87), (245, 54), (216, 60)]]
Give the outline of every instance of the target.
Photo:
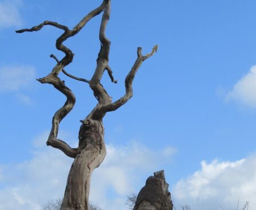
[[(119, 100), (112, 102), (112, 98), (108, 95), (103, 85), (100, 83), (103, 73), (107, 70), (111, 81), (114, 80), (112, 70), (108, 64), (109, 61), (109, 48), (110, 41), (105, 36), (105, 29), (109, 21), (111, 9), (111, 0), (104, 0), (99, 7), (90, 11), (80, 22), (77, 23), (73, 29), (69, 29), (67, 26), (61, 25), (57, 22), (45, 21), (40, 25), (31, 27), (31, 29), (17, 30), (17, 33), (23, 33), (26, 31), (38, 31), (46, 25), (57, 27), (64, 31), (64, 33), (57, 38), (56, 48), (62, 51), (65, 56), (59, 61), (54, 55), (50, 57), (54, 58), (57, 64), (54, 66), (52, 72), (47, 76), (38, 79), (42, 84), (53, 85), (58, 91), (66, 96), (66, 102), (64, 106), (57, 110), (52, 120), (52, 130), (50, 131), (49, 138), (46, 142), (48, 146), (60, 149), (67, 156), (72, 157), (74, 162), (70, 168), (68, 180), (65, 189), (64, 200), (61, 204), (61, 210), (88, 210), (88, 196), (90, 189), (90, 176), (95, 168), (104, 160), (106, 154), (106, 148), (104, 143), (104, 125), (103, 117), (107, 112), (112, 112), (123, 106), (132, 97), (132, 82), (140, 65), (147, 58), (151, 57), (157, 50), (157, 46), (154, 46), (151, 53), (143, 56), (141, 53), (141, 47), (137, 48), (137, 59), (132, 69), (125, 78), (125, 94), (120, 97)], [(64, 45), (64, 41), (76, 35), (90, 19), (96, 17), (103, 12), (100, 25), (100, 43), (101, 48), (97, 57), (97, 65), (94, 74), (90, 80), (84, 78), (78, 78), (69, 74), (64, 70), (65, 66), (69, 65), (73, 60), (73, 52)], [(78, 134), (79, 144), (78, 148), (71, 148), (65, 141), (57, 138), (58, 128), (61, 120), (72, 110), (76, 98), (66, 85), (64, 81), (61, 81), (58, 74), (63, 72), (66, 76), (73, 78), (74, 80), (86, 82), (90, 89), (92, 89), (94, 96), (97, 98), (98, 104), (92, 109), (92, 111), (81, 120), (82, 125)]]

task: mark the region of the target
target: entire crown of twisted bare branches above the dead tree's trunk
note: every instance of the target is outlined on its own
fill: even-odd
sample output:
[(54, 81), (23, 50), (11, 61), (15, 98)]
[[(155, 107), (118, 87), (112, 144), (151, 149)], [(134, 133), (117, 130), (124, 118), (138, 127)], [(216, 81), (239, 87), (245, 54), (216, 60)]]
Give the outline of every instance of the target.
[[(31, 29), (22, 29), (22, 30), (16, 31), (17, 33), (23, 33), (26, 31), (30, 31), (30, 32), (38, 31), (38, 30), (41, 30), (42, 27), (44, 27), (45, 25), (54, 26), (54, 27), (57, 27), (58, 29), (64, 30), (64, 33), (60, 37), (58, 37), (56, 40), (56, 48), (62, 51), (65, 54), (65, 56), (59, 61), (56, 58), (56, 56), (51, 55), (51, 57), (54, 58), (54, 60), (56, 60), (57, 64), (54, 66), (54, 68), (52, 69), (52, 72), (48, 74), (48, 76), (40, 78), (38, 79), (38, 81), (40, 81), (43, 84), (48, 83), (53, 85), (54, 88), (56, 88), (66, 96), (66, 102), (64, 106), (62, 106), (62, 108), (57, 110), (57, 112), (53, 116), (52, 130), (50, 132), (47, 145), (50, 145), (50, 146), (53, 146), (54, 148), (58, 148), (62, 150), (62, 152), (64, 152), (69, 157), (76, 157), (81, 149), (71, 148), (68, 144), (66, 144), (66, 142), (57, 139), (57, 134), (58, 134), (58, 128), (61, 120), (72, 110), (74, 103), (76, 101), (76, 98), (74, 97), (74, 94), (72, 93), (72, 91), (65, 86), (64, 81), (60, 80), (60, 78), (58, 77), (58, 74), (62, 71), (66, 76), (73, 78), (74, 80), (86, 82), (90, 85), (90, 88), (93, 90), (93, 94), (97, 98), (99, 103), (96, 105), (96, 107), (92, 110), (92, 112), (86, 118), (92, 118), (92, 120), (101, 121), (107, 112), (111, 112), (113, 110), (120, 108), (120, 106), (124, 105), (129, 100), (129, 98), (132, 97), (132, 94), (133, 94), (132, 82), (135, 77), (135, 74), (137, 73), (137, 70), (139, 69), (142, 62), (147, 58), (151, 57), (157, 50), (157, 46), (155, 46), (153, 47), (151, 53), (148, 53), (145, 56), (143, 56), (141, 54), (141, 47), (138, 47), (137, 60), (135, 61), (135, 64), (132, 66), (132, 69), (130, 70), (127, 77), (125, 78), (125, 94), (119, 100), (112, 102), (112, 97), (108, 95), (103, 85), (100, 84), (100, 80), (105, 70), (107, 70), (109, 77), (111, 78), (111, 81), (115, 83), (117, 82), (114, 79), (113, 72), (108, 64), (111, 42), (105, 35), (105, 29), (107, 27), (107, 23), (110, 17), (110, 8), (111, 8), (111, 0), (103, 0), (103, 3), (101, 3), (99, 7), (97, 7), (90, 13), (88, 13), (84, 18), (82, 18), (81, 21), (76, 26), (74, 26), (72, 30), (70, 30), (68, 27), (64, 25), (60, 25), (59, 23), (52, 22), (52, 21), (45, 21), (40, 25), (31, 27)], [(63, 44), (63, 42), (66, 41), (66, 39), (76, 35), (86, 25), (86, 23), (90, 19), (100, 14), (102, 11), (104, 11), (104, 13), (101, 19), (101, 26), (100, 26), (100, 33), (99, 33), (101, 48), (97, 58), (96, 70), (94, 71), (94, 74), (91, 80), (88, 81), (83, 78), (75, 77), (64, 70), (65, 66), (69, 65), (73, 61), (74, 54), (68, 47), (66, 47)]]

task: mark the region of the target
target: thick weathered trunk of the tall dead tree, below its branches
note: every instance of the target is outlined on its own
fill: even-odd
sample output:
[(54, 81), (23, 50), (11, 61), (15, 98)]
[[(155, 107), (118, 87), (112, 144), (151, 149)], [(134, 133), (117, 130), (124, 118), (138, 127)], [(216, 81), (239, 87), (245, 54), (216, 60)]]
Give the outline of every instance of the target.
[(104, 128), (101, 121), (86, 120), (79, 132), (79, 147), (70, 168), (61, 210), (87, 210), (90, 191), (90, 176), (104, 160)]

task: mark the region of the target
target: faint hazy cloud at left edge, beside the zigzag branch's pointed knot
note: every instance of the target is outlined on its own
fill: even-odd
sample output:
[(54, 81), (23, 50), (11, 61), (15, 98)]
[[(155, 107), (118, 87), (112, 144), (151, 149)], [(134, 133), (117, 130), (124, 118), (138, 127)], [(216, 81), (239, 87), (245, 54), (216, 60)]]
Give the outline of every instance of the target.
[(35, 78), (36, 71), (31, 66), (3, 66), (0, 68), (0, 92), (26, 88)]

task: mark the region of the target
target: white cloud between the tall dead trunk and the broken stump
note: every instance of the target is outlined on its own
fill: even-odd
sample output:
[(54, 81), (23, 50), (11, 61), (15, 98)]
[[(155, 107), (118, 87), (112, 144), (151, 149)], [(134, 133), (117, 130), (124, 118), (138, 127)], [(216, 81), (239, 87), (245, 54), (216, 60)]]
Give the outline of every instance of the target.
[(152, 151), (136, 141), (127, 146), (108, 145), (103, 164), (92, 176), (90, 200), (103, 209), (125, 209), (126, 196), (139, 192), (148, 176), (163, 169), (171, 158), (166, 157), (164, 149)]

